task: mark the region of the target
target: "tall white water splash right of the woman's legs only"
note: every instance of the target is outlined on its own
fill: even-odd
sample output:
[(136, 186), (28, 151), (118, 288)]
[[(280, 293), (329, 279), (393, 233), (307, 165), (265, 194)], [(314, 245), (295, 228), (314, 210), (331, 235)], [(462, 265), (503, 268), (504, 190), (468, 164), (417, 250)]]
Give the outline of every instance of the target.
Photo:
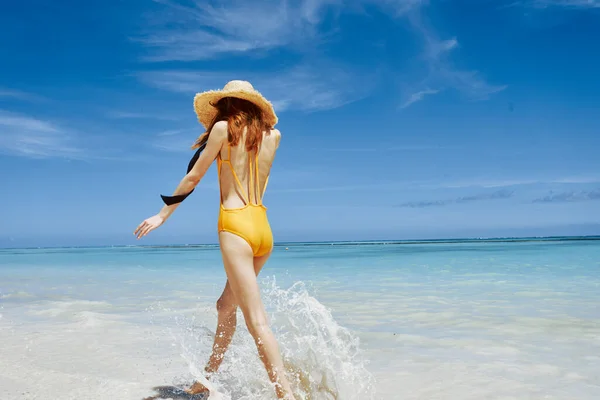
[(374, 379), (360, 341), (340, 326), (303, 282), (281, 289), (271, 279), (264, 302), (299, 396), (306, 400), (373, 399)]

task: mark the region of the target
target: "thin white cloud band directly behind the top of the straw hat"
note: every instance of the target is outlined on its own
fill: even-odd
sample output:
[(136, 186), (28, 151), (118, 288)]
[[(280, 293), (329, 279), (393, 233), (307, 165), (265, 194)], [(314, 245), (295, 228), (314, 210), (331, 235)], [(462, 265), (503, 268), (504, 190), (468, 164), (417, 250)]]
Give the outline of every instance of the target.
[(189, 95), (222, 88), (231, 79), (244, 79), (267, 97), (276, 111), (337, 108), (363, 98), (375, 84), (375, 79), (369, 75), (359, 78), (341, 67), (317, 64), (276, 74), (169, 70), (142, 71), (136, 76), (148, 85)]

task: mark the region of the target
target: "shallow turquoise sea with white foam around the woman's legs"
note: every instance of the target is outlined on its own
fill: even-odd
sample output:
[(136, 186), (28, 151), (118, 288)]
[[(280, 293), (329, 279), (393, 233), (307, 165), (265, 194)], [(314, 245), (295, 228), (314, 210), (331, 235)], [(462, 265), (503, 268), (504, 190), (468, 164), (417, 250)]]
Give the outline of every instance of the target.
[[(299, 399), (600, 399), (600, 238), (283, 243), (259, 280)], [(0, 250), (0, 399), (186, 398), (153, 388), (224, 283), (215, 246)], [(213, 382), (275, 398), (241, 313)]]

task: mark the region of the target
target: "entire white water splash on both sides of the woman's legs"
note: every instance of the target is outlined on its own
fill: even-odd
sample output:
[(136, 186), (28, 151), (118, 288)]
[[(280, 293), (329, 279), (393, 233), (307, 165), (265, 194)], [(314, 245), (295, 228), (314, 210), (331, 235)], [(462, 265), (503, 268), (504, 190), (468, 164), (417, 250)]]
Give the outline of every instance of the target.
[[(340, 326), (303, 282), (289, 289), (274, 278), (262, 282), (262, 299), (298, 400), (374, 400), (375, 381), (367, 370), (360, 341)], [(211, 381), (203, 369), (214, 331), (196, 317), (175, 316), (166, 328), (189, 366), (178, 384), (199, 380), (212, 389), (210, 400), (271, 400), (275, 390), (258, 357), (256, 345), (238, 312), (237, 331), (219, 372)], [(216, 318), (214, 318), (216, 323)]]

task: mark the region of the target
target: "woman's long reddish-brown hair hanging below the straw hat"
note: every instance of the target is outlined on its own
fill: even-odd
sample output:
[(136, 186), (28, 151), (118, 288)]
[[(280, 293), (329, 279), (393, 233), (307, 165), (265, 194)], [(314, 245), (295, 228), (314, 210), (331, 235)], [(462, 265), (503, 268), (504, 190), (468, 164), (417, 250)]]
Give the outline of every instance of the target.
[(246, 128), (246, 150), (257, 150), (263, 138), (263, 132), (269, 134), (271, 126), (265, 122), (263, 112), (256, 104), (236, 97), (224, 97), (215, 104), (218, 112), (211, 124), (206, 129), (194, 145), (192, 149), (196, 149), (208, 141), (210, 131), (219, 121), (227, 121), (227, 139), (231, 146), (236, 146)]

